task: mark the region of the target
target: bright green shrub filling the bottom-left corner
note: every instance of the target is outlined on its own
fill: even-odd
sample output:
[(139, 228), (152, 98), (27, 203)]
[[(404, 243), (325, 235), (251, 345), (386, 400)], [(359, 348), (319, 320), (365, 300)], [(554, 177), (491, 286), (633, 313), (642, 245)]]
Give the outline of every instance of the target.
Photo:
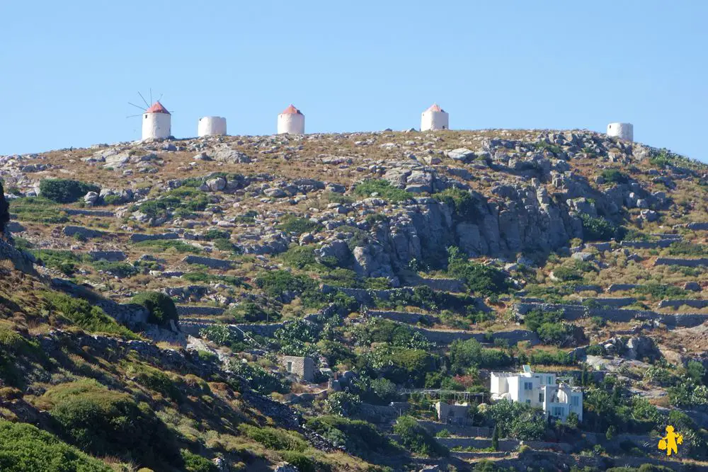
[(33, 425), (0, 420), (0, 470), (110, 472), (113, 469)]

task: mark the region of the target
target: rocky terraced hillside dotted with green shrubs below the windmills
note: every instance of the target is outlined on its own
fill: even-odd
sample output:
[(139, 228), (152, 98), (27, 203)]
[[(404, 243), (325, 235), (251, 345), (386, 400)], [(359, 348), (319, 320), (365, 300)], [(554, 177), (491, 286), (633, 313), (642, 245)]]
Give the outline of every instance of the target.
[[(0, 178), (8, 470), (707, 467), (702, 163), (384, 131), (0, 156)], [(582, 420), (492, 404), (521, 364), (581, 389)]]

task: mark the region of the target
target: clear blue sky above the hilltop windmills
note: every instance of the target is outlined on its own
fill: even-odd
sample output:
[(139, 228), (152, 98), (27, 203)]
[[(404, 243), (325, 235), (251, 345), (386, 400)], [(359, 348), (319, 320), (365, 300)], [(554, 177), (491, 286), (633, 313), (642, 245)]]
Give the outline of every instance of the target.
[(3, 1), (0, 154), (139, 139), (137, 91), (173, 134), (227, 117), (271, 134), (634, 123), (708, 161), (708, 1)]

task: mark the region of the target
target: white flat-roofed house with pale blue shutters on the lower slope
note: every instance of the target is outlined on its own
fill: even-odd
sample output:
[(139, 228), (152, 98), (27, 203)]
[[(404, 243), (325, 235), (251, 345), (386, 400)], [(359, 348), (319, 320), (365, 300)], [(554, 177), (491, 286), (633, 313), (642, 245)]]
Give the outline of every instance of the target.
[(562, 382), (556, 384), (556, 374), (535, 373), (527, 365), (520, 373), (492, 372), (490, 391), (492, 401), (521, 401), (543, 408), (546, 415), (561, 421), (570, 413), (583, 420), (583, 392)]

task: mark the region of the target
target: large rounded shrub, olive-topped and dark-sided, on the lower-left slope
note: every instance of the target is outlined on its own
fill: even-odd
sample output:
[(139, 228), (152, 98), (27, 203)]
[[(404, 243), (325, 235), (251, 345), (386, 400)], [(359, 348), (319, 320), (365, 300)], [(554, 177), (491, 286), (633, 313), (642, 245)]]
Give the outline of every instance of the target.
[(179, 460), (164, 423), (149, 405), (138, 405), (127, 393), (96, 381), (74, 381), (52, 386), (40, 401), (67, 439), (92, 454), (132, 456), (156, 464)]

